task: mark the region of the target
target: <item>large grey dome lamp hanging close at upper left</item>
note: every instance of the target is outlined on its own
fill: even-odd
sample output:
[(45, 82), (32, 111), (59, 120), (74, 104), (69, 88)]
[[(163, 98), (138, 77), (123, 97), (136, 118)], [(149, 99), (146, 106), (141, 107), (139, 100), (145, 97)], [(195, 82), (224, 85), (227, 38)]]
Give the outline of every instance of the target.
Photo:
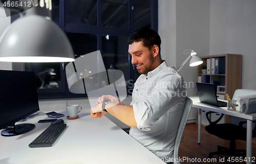
[[(51, 3), (44, 5), (44, 1), (40, 1), (40, 5), (33, 4), (32, 8), (26, 11), (22, 7), (18, 10), (22, 16), (0, 37), (0, 61), (74, 61), (74, 52), (68, 38), (50, 18), (49, 5)], [(15, 10), (17, 11), (11, 8), (11, 11)], [(45, 13), (49, 13), (49, 16)]]

